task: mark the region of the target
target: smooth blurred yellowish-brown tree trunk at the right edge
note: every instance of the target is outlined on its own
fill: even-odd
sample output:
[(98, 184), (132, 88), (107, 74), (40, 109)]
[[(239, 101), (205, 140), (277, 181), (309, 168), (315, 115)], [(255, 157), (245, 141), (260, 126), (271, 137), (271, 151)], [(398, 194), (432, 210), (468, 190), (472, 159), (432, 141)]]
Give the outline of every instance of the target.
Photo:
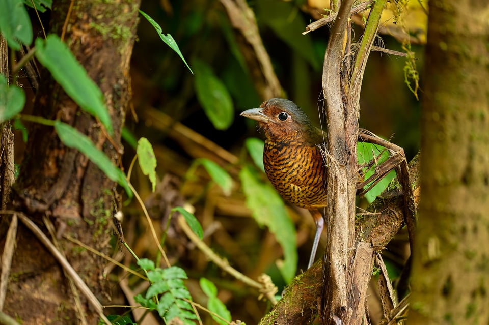
[(430, 1), (411, 324), (489, 322), (489, 5)]

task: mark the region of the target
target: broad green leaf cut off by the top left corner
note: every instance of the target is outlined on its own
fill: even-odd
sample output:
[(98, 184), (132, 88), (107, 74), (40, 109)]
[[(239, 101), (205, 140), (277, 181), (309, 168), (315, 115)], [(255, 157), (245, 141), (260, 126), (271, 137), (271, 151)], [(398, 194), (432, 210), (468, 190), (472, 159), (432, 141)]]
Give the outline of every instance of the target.
[(18, 0), (0, 0), (0, 32), (8, 45), (20, 50), (19, 40), (24, 45), (32, 43), (32, 25), (27, 10)]

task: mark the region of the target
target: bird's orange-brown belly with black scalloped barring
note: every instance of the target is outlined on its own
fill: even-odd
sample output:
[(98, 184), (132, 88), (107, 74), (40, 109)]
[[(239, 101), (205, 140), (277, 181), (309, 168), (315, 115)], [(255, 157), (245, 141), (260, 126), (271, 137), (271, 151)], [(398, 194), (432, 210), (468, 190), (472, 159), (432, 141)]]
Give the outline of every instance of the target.
[(263, 162), (268, 179), (285, 200), (307, 209), (325, 205), (325, 167), (317, 147), (265, 146)]

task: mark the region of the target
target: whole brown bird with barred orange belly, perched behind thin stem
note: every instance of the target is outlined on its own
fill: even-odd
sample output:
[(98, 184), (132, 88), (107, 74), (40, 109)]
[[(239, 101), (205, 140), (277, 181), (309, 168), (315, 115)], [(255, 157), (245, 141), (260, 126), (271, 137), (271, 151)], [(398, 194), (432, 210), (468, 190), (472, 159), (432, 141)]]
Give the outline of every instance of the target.
[(312, 125), (294, 102), (272, 98), (240, 116), (258, 121), (264, 131), (263, 165), (277, 192), (286, 201), (309, 210), (316, 224), (308, 269), (314, 263), (324, 228), (327, 197), (326, 165), (320, 146), (327, 133)]

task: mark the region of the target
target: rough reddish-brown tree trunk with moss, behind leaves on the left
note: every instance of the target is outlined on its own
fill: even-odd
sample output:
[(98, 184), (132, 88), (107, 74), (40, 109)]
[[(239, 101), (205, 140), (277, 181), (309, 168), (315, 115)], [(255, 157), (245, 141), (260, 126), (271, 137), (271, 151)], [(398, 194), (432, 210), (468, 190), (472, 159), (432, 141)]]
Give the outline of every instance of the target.
[[(121, 129), (130, 98), (129, 60), (140, 2), (82, 1), (75, 2), (72, 8), (70, 3), (64, 0), (53, 3), (51, 32), (62, 35), (67, 20), (64, 40), (101, 88), (115, 130), (113, 141), (107, 139), (92, 116), (79, 110), (47, 71), (41, 73), (34, 114), (72, 125), (118, 164), (122, 154)], [(49, 238), (46, 231), (49, 222), (45, 220), (55, 225), (59, 247), (99, 300), (107, 293), (105, 261), (66, 237), (108, 252), (117, 201), (115, 186), (84, 155), (64, 146), (52, 127), (30, 126), (15, 188), (15, 209), (23, 210)], [(4, 237), (3, 228), (0, 238)], [(19, 227), (4, 311), (24, 324), (78, 323), (84, 318), (87, 323), (97, 323), (98, 316), (83, 295), (80, 294), (80, 307), (75, 308), (75, 296), (60, 265), (29, 230)]]

